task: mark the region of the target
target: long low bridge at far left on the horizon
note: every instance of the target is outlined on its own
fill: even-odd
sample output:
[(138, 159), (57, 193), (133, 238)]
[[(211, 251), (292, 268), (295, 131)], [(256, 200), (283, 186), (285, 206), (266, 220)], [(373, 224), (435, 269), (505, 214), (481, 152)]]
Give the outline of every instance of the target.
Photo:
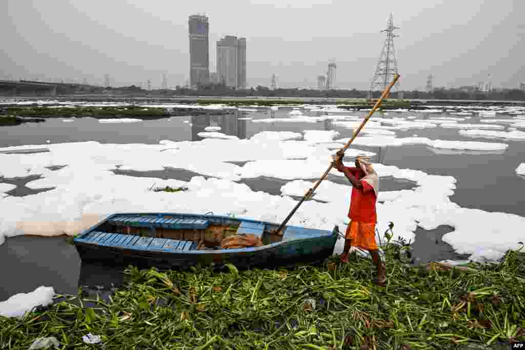
[(53, 83), (31, 80), (0, 80), (0, 94), (8, 96), (35, 95), (56, 96), (57, 94), (96, 93), (104, 88), (79, 83)]

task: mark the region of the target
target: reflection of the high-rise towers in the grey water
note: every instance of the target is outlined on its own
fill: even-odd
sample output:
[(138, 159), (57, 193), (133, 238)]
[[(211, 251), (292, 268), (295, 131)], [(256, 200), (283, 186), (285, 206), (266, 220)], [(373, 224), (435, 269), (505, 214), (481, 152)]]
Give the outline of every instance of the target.
[(192, 141), (201, 141), (204, 137), (198, 133), (205, 132), (208, 126), (218, 126), (218, 132), (246, 139), (246, 120), (239, 120), (241, 111), (234, 111), (225, 115), (194, 115), (192, 116)]

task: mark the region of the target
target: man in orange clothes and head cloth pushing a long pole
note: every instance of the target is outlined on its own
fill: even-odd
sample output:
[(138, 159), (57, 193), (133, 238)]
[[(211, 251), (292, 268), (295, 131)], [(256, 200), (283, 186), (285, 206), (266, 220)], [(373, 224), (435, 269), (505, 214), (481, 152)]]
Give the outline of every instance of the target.
[(375, 203), (379, 190), (379, 177), (374, 171), (367, 156), (359, 155), (355, 159), (355, 167), (344, 166), (344, 154), (338, 152), (332, 166), (352, 183), (352, 196), (348, 217), (351, 220), (346, 228), (344, 250), (341, 261), (348, 262), (350, 247), (359, 247), (368, 250), (377, 269), (376, 282), (379, 285), (386, 283), (385, 267), (379, 257), (375, 242), (375, 224), (377, 216)]

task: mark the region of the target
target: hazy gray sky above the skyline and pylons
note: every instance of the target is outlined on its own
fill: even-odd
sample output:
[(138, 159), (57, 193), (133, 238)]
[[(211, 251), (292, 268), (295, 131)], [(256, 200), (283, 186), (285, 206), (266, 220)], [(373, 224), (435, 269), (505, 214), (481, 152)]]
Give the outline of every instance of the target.
[[(51, 5), (53, 4), (53, 5)], [(486, 81), (525, 82), (523, 0), (0, 0), (0, 79), (75, 79), (114, 86), (189, 78), (188, 16), (209, 17), (210, 71), (216, 41), (247, 40), (247, 83), (314, 87), (337, 62), (337, 88), (367, 89), (390, 13), (402, 89)]]

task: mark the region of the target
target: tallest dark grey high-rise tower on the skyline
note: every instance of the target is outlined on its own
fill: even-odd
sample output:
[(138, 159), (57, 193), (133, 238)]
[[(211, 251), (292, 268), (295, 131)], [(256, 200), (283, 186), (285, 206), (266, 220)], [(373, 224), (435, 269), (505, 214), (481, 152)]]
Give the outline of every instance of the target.
[(190, 30), (190, 86), (209, 83), (208, 17), (192, 15), (188, 20)]

